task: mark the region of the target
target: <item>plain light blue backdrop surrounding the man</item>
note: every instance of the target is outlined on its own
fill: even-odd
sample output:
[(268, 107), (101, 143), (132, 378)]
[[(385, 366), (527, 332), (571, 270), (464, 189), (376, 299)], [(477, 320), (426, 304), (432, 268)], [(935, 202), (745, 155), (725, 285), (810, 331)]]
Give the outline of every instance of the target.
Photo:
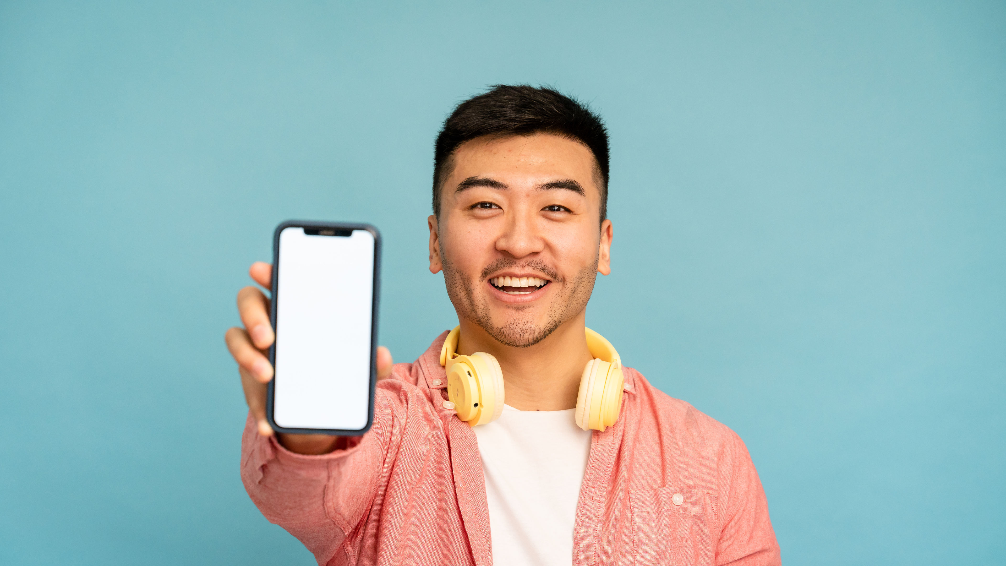
[(589, 323), (746, 441), (787, 563), (1003, 563), (1006, 6), (916, 1), (0, 3), (0, 563), (312, 563), (238, 479), (234, 293), (371, 222), (414, 359), (495, 83), (607, 119)]

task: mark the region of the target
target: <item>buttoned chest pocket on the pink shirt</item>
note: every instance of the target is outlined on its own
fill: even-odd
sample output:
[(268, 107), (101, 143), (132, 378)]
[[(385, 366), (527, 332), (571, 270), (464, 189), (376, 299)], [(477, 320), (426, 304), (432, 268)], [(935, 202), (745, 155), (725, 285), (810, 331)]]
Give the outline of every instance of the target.
[(636, 564), (712, 564), (716, 555), (716, 497), (694, 487), (631, 489)]

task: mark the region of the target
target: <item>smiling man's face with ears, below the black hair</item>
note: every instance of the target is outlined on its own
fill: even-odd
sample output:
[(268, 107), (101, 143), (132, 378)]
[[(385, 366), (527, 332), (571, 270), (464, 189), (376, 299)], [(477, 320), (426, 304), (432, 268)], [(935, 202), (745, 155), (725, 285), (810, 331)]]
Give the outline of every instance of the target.
[(551, 134), (462, 145), (430, 217), (430, 271), (458, 316), (511, 346), (537, 343), (583, 312), (610, 273), (611, 221), (584, 145)]

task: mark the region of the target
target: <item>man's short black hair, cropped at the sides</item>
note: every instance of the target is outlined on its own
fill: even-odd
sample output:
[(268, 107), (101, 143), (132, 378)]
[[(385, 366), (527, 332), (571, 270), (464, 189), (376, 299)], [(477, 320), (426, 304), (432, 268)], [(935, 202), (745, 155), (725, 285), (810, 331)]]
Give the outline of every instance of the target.
[(601, 221), (608, 218), (608, 130), (583, 103), (548, 87), (494, 85), (458, 105), (444, 121), (434, 152), (434, 214), (440, 218), (441, 186), (461, 145), (482, 136), (555, 134), (585, 145), (597, 162)]

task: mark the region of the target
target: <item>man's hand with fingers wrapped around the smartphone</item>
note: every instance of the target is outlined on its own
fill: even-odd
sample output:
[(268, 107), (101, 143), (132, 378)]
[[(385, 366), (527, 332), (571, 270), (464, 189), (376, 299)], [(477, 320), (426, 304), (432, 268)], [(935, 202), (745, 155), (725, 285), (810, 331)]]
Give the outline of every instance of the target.
[[(252, 279), (265, 288), (273, 287), (273, 266), (257, 262), (248, 270)], [(259, 432), (273, 434), (267, 419), (269, 383), (273, 380), (274, 369), (267, 352), (275, 341), (275, 333), (270, 323), (271, 301), (257, 287), (248, 286), (237, 294), (237, 308), (243, 328), (233, 327), (226, 332), (227, 347), (240, 373), (244, 398), (258, 422)], [(387, 348), (376, 348), (376, 371), (378, 380), (391, 373), (391, 355)], [(288, 449), (303, 454), (318, 454), (331, 451), (338, 440), (326, 434), (279, 434), (279, 440)]]

